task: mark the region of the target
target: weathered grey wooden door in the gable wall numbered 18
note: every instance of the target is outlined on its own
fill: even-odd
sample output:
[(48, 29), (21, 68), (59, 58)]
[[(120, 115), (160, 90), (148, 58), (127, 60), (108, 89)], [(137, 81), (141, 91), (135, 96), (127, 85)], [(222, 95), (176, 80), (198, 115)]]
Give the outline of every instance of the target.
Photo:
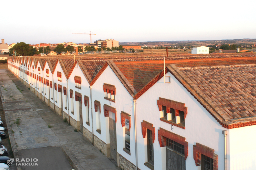
[(109, 138), (110, 138), (110, 156), (117, 162), (116, 149), (116, 124), (115, 120), (109, 117)]

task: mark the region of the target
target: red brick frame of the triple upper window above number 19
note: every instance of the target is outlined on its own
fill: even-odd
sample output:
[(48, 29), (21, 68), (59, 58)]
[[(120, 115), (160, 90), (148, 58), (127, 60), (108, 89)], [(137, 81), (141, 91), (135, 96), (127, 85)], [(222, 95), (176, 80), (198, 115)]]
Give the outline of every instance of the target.
[[(159, 111), (163, 111), (164, 110), (163, 106), (165, 106), (166, 113), (170, 113), (171, 108), (174, 109), (175, 116), (180, 116), (180, 113), (184, 112), (184, 119), (186, 119), (188, 108), (185, 107), (185, 103), (159, 97), (159, 99), (157, 100), (157, 106)], [(160, 120), (163, 122), (169, 123), (171, 125), (185, 129), (185, 126), (182, 126), (181, 124), (176, 124), (176, 122), (173, 122), (173, 121), (168, 121), (164, 117), (160, 117)]]

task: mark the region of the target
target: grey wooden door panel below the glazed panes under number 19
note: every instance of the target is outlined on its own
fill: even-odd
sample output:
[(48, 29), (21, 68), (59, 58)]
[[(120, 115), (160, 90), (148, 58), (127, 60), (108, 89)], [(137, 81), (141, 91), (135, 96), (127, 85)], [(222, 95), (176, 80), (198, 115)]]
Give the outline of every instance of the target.
[(166, 147), (166, 170), (186, 170), (186, 161), (180, 154)]

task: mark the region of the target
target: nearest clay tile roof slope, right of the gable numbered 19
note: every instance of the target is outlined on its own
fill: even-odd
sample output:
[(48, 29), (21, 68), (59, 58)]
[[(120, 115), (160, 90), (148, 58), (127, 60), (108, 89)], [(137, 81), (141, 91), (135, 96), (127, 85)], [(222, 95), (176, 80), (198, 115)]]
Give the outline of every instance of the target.
[[(234, 63), (235, 61), (232, 62)], [(209, 68), (195, 68), (190, 70), (194, 73), (201, 73), (204, 76), (209, 76), (209, 73), (205, 71), (205, 69)], [(185, 74), (188, 71), (188, 68), (180, 68), (180, 70)], [(212, 98), (209, 93), (207, 93), (207, 87), (200, 87), (202, 93), (208, 96), (209, 99), (212, 100), (212, 102), (215, 101), (217, 107), (223, 108), (222, 111), (230, 119), (237, 120), (246, 117), (256, 117), (256, 107), (253, 106), (255, 105), (254, 103), (256, 103), (256, 90), (255, 88), (252, 88), (252, 86), (256, 86), (256, 77), (253, 75), (256, 73), (256, 65), (246, 64), (226, 67), (215, 66), (211, 67), (211, 70), (214, 70), (216, 72), (216, 74), (213, 75), (213, 77), (216, 79), (215, 81), (212, 80), (211, 82), (216, 85), (223, 85), (227, 88), (212, 88), (211, 90), (214, 90), (216, 92), (215, 94), (217, 97), (215, 97), (215, 99)], [(229, 74), (230, 76), (226, 76), (227, 74)], [(192, 77), (187, 77), (191, 81), (193, 81)], [(236, 77), (240, 77), (240, 79)], [(217, 81), (217, 78), (219, 78), (221, 81)], [(210, 80), (204, 80), (204, 82), (207, 83), (210, 82)], [(229, 85), (231, 85), (231, 87), (229, 87)]]

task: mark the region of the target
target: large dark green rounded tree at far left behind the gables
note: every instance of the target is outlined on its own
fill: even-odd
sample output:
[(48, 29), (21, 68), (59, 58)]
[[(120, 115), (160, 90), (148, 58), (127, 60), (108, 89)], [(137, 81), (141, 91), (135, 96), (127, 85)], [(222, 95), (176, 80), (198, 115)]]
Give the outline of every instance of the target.
[(36, 53), (33, 46), (30, 46), (29, 44), (26, 44), (24, 42), (17, 43), (9, 49), (10, 54), (13, 54), (14, 51), (22, 56), (33, 56)]

